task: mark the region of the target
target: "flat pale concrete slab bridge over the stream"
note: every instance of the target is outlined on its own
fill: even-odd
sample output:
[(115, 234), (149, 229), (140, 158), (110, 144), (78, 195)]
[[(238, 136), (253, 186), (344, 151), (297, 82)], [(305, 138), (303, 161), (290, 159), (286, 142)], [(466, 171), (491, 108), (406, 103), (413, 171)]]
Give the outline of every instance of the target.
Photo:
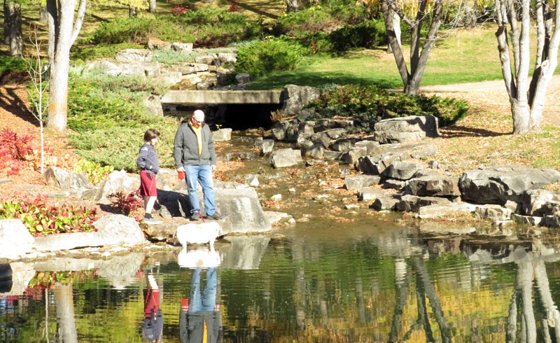
[(281, 90), (169, 90), (162, 104), (221, 105), (221, 104), (282, 104)]

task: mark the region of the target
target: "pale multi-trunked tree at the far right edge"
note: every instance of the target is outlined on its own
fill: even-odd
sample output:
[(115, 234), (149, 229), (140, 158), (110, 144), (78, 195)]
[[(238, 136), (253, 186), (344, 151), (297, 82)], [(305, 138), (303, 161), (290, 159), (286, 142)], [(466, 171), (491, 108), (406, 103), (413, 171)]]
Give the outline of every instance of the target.
[[(553, 5), (556, 6), (554, 9)], [(538, 132), (547, 87), (558, 65), (560, 1), (496, 0), (496, 14), (496, 38), (505, 88), (510, 98), (513, 133)], [(536, 17), (537, 51), (533, 77), (529, 80), (529, 30), (533, 15)]]

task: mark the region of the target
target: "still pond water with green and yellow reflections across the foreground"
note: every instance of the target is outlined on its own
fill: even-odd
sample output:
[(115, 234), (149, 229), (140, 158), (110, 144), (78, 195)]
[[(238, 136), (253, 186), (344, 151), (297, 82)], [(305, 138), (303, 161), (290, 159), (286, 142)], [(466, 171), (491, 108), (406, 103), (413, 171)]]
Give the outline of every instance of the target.
[(556, 251), (368, 218), (4, 264), (0, 342), (556, 342)]

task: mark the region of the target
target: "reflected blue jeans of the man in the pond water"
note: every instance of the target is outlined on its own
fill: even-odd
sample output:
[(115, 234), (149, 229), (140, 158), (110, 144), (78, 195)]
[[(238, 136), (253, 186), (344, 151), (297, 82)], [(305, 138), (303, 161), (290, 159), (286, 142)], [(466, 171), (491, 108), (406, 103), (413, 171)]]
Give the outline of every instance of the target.
[(216, 305), (216, 268), (209, 268), (206, 272), (206, 286), (204, 291), (200, 293), (200, 274), (202, 269), (198, 267), (193, 271), (193, 277), (190, 279), (190, 301), (189, 312), (198, 311), (214, 311)]

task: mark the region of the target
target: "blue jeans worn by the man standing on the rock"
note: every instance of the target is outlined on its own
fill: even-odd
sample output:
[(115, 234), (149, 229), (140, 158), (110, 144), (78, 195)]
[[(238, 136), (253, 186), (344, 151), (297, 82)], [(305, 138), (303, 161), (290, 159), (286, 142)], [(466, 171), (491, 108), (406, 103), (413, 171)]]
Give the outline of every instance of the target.
[(212, 182), (212, 170), (209, 165), (186, 165), (183, 166), (186, 172), (186, 182), (188, 190), (188, 200), (190, 201), (190, 214), (200, 211), (198, 202), (197, 183), (200, 182), (202, 194), (204, 195), (204, 210), (207, 216), (216, 212), (214, 205), (214, 183)]

